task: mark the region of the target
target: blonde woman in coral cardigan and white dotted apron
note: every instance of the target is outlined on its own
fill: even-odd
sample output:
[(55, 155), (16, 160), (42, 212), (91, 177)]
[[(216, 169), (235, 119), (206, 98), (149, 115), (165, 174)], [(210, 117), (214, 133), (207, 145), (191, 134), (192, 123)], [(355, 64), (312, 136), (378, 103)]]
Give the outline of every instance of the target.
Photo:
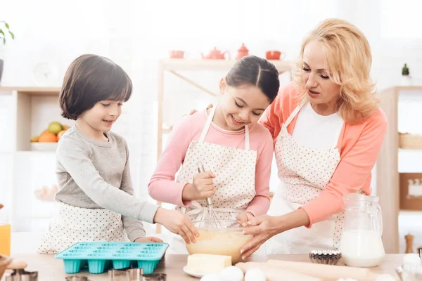
[(387, 123), (370, 78), (371, 50), (345, 20), (321, 22), (302, 44), (295, 79), (281, 89), (261, 124), (274, 139), (280, 178), (269, 215), (249, 222), (243, 259), (264, 242), (267, 254), (335, 249), (343, 195), (371, 194)]

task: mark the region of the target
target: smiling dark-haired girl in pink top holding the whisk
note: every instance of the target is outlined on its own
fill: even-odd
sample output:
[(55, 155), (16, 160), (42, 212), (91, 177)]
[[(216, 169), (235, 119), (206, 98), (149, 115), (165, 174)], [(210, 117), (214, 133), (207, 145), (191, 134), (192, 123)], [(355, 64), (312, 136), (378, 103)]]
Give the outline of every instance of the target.
[[(220, 220), (246, 226), (266, 214), (273, 141), (257, 122), (279, 86), (279, 72), (269, 61), (253, 55), (238, 60), (219, 82), (219, 104), (174, 126), (148, 185), (151, 197), (177, 205), (193, 221), (208, 214), (208, 197)], [(198, 162), (205, 172), (198, 173)], [(186, 252), (177, 241), (169, 251)]]

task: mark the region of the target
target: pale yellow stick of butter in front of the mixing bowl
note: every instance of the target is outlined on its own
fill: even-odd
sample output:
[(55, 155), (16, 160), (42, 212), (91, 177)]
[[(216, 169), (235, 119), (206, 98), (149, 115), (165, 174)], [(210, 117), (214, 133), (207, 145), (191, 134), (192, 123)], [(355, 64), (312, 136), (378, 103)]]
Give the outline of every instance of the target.
[(188, 256), (186, 270), (191, 273), (218, 273), (229, 266), (231, 266), (231, 256), (191, 254)]

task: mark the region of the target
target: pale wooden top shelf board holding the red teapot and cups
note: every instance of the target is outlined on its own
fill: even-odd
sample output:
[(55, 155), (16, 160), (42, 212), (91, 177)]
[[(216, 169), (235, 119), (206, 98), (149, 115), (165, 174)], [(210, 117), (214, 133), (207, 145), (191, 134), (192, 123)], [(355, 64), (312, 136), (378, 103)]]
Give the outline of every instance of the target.
[[(292, 63), (286, 60), (269, 60), (277, 67), (279, 72), (290, 71)], [(198, 71), (198, 70), (215, 70), (227, 71), (229, 70), (236, 60), (203, 60), (203, 59), (175, 59), (166, 58), (160, 60), (162, 70), (167, 71)]]

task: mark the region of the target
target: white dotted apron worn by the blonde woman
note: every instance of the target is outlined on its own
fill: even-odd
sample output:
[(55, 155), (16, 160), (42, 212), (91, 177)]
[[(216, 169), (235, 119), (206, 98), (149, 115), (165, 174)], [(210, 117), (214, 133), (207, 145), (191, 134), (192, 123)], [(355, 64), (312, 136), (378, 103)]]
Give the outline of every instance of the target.
[[(273, 197), (268, 214), (281, 216), (318, 197), (326, 188), (340, 162), (338, 139), (330, 150), (318, 150), (299, 145), (287, 131), (304, 103), (298, 105), (281, 126), (276, 140), (275, 155), (279, 189)], [(271, 237), (266, 243), (267, 254), (309, 254), (313, 249), (337, 249), (343, 227), (344, 213), (326, 221), (314, 223), (312, 228), (293, 228)]]

